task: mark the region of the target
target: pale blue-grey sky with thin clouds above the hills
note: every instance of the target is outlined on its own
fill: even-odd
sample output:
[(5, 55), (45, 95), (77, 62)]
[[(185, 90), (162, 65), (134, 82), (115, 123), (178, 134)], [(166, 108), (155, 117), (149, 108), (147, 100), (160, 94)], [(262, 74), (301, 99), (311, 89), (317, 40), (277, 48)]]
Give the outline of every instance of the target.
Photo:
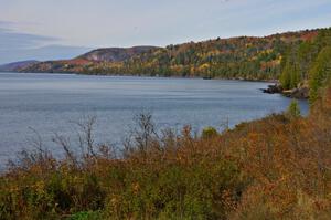
[(0, 0), (0, 63), (325, 27), (331, 0)]

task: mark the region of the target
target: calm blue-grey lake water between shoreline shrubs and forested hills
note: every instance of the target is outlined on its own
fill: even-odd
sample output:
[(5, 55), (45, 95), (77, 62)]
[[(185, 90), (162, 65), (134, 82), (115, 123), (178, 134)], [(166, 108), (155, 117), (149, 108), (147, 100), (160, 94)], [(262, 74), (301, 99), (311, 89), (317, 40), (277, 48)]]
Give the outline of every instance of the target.
[[(134, 116), (151, 112), (159, 128), (191, 124), (221, 129), (287, 108), (289, 98), (264, 94), (267, 83), (223, 80), (0, 73), (0, 167), (36, 130), (55, 154), (54, 133), (74, 136), (73, 121), (96, 116), (96, 139), (120, 143)], [(301, 111), (308, 104), (300, 102)]]

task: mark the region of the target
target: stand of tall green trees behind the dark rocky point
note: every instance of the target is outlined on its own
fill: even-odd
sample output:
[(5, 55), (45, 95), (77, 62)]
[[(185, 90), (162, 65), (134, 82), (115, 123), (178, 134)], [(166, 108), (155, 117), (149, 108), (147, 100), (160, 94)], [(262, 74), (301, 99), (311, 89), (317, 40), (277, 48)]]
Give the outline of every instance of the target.
[(312, 41), (297, 42), (288, 46), (282, 60), (280, 84), (295, 88), (308, 84), (310, 99), (318, 96), (318, 88), (331, 73), (331, 29), (320, 30)]

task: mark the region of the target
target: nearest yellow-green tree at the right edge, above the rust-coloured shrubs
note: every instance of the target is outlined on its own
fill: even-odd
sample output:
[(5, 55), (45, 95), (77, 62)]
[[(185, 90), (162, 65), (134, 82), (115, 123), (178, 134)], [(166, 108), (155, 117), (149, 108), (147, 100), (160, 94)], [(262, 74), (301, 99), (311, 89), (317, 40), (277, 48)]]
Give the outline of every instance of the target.
[(331, 76), (331, 46), (324, 48), (318, 55), (309, 80), (310, 102), (313, 103), (319, 96), (319, 90), (325, 85)]

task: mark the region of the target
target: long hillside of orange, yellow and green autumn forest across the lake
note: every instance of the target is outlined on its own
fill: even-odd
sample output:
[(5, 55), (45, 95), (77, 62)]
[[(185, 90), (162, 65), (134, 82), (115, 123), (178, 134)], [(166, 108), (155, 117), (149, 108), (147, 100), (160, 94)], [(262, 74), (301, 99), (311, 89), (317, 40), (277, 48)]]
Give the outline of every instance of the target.
[(105, 53), (102, 59), (83, 55), (66, 61), (42, 62), (19, 71), (275, 80), (282, 72), (284, 56), (289, 49), (302, 42), (313, 42), (319, 31), (287, 32), (265, 38), (218, 38), (149, 48), (124, 59), (109, 59)]

